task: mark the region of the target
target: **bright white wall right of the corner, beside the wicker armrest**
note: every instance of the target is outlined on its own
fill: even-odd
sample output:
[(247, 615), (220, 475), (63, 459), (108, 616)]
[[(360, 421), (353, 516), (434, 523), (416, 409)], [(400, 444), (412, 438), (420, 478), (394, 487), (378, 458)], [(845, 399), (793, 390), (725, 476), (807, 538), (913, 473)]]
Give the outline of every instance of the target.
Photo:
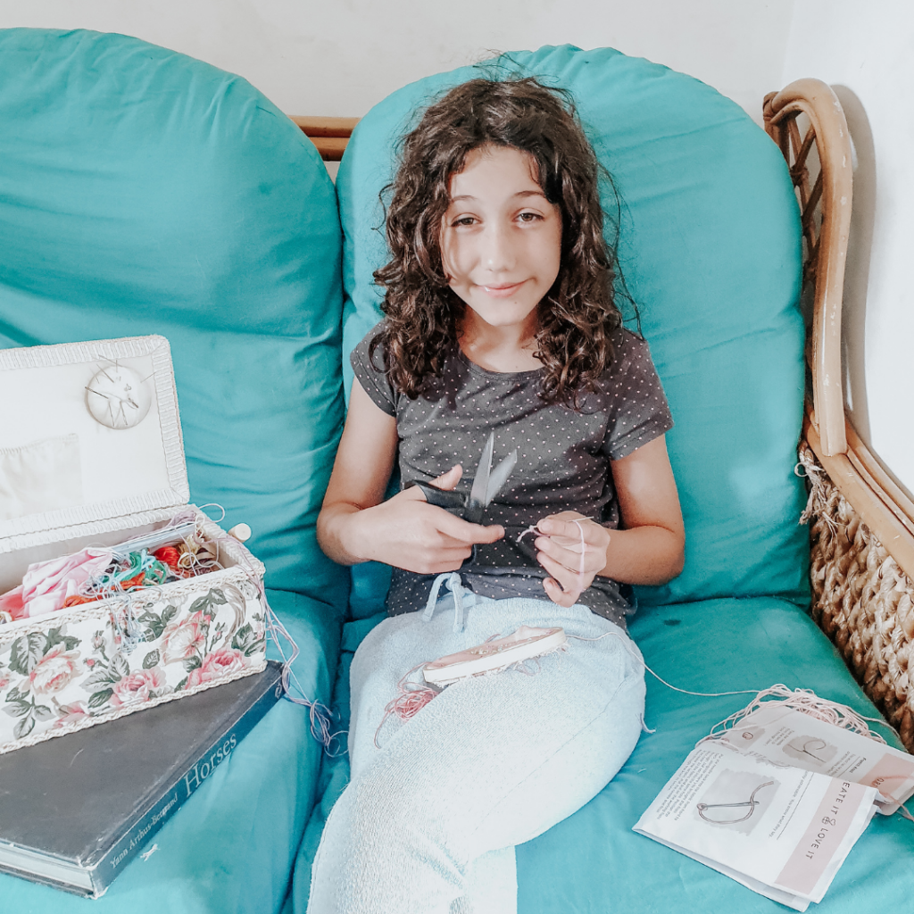
[(796, 0), (784, 84), (814, 76), (856, 146), (845, 396), (861, 438), (914, 491), (914, 5)]

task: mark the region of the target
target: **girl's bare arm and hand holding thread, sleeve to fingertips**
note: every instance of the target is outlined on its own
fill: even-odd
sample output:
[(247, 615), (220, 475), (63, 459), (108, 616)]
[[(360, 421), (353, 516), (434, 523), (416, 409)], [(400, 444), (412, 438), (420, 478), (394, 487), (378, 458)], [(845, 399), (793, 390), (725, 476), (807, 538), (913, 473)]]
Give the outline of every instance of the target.
[[(538, 557), (551, 579), (550, 600), (571, 606), (596, 575), (626, 584), (665, 584), (683, 569), (685, 528), (664, 436), (612, 463), (622, 529), (581, 520), (575, 512), (537, 525)], [(584, 553), (581, 555), (581, 536)], [(583, 561), (582, 561), (583, 559)]]

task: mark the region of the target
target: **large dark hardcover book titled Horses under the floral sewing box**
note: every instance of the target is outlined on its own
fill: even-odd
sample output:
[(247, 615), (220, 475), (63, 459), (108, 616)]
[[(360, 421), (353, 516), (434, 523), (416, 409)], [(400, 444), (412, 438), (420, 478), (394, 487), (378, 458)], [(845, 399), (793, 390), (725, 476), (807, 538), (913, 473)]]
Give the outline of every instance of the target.
[(282, 695), (282, 664), (0, 756), (0, 870), (100, 898)]

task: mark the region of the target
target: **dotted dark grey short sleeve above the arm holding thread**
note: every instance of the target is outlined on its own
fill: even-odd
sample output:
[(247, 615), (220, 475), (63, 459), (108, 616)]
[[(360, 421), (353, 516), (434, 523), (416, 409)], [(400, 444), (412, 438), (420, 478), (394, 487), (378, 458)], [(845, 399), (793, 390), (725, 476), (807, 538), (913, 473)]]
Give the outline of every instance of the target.
[(602, 450), (610, 460), (622, 460), (673, 428), (651, 350), (640, 336), (622, 331), (603, 389), (610, 397), (611, 421)]

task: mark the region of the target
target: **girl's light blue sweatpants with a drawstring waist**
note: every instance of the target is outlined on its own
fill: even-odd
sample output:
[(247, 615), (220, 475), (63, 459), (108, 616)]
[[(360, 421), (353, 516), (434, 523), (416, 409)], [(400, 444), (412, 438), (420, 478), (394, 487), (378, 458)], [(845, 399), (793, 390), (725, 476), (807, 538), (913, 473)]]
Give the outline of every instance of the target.
[[(618, 626), (580, 605), (462, 596), (462, 611), (446, 594), (431, 618), (385, 619), (356, 652), (351, 780), (314, 859), (309, 914), (468, 914), (490, 907), (481, 894), (513, 910), (514, 845), (589, 802), (638, 741), (643, 664)], [(409, 669), (521, 625), (621, 637), (569, 638), (527, 672), (462, 679), (377, 733)]]

